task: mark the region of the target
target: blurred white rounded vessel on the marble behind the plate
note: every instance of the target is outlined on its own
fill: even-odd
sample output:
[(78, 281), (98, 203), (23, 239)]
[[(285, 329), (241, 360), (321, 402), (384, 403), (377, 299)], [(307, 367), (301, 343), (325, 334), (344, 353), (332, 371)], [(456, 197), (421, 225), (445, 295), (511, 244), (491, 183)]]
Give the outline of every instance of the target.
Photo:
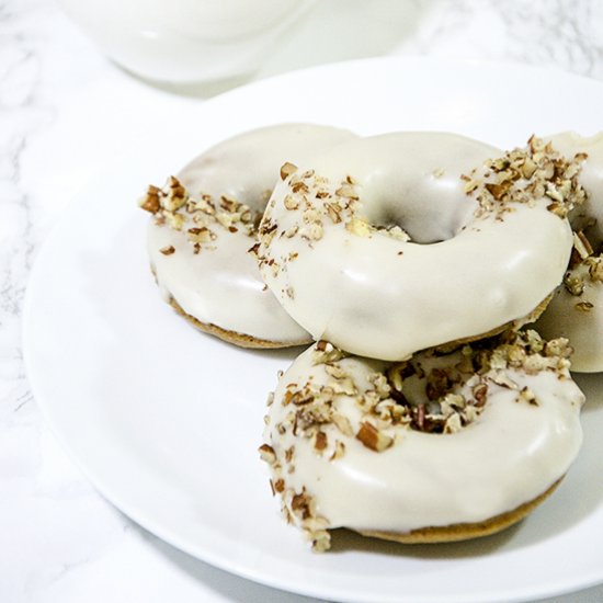
[(258, 69), (316, 0), (59, 0), (126, 69), (159, 81), (212, 81)]

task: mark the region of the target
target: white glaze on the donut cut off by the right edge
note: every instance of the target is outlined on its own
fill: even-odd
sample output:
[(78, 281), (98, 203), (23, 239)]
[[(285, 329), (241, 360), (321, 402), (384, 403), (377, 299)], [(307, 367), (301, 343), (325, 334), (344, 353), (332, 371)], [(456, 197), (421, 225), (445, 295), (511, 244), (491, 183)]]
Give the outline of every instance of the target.
[[(588, 155), (580, 172), (588, 198), (572, 212), (570, 221), (576, 230), (584, 230), (598, 250), (603, 243), (603, 133), (582, 137), (565, 132), (547, 139), (567, 157), (578, 152)], [(595, 223), (590, 225), (593, 219)], [(572, 371), (596, 373), (603, 371), (603, 283), (590, 280), (585, 266), (580, 266), (579, 274), (584, 282), (583, 293), (571, 295), (560, 285), (536, 328), (546, 338), (562, 335), (570, 340), (574, 349)], [(580, 304), (592, 304), (592, 308), (584, 311)]]

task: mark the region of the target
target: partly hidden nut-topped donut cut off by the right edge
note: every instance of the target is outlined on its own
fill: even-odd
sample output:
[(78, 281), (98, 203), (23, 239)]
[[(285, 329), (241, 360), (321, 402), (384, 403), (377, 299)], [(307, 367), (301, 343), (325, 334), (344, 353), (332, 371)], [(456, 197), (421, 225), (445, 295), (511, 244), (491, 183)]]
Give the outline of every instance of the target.
[(581, 137), (566, 132), (548, 140), (581, 161), (587, 198), (569, 215), (574, 250), (564, 283), (535, 328), (545, 338), (569, 339), (572, 371), (596, 373), (603, 371), (603, 133)]

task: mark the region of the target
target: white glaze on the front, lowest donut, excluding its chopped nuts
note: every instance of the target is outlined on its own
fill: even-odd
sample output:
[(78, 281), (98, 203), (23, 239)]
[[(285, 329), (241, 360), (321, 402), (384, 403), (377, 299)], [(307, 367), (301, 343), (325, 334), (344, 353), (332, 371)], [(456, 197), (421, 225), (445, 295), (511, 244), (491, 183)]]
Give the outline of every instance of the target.
[[(519, 389), (530, 387), (537, 405), (517, 399), (517, 390), (490, 382), (485, 409), (468, 426), (447, 434), (389, 426), (384, 431), (395, 437), (394, 444), (380, 453), (354, 435), (343, 435), (332, 423), (321, 424), (329, 446), (335, 440), (345, 446), (344, 454), (332, 460), (331, 448), (319, 454), (312, 437), (277, 429), (295, 411), (293, 403), (283, 403), (287, 384), (334, 383), (325, 364), (314, 364), (312, 353), (314, 346), (281, 377), (265, 435), (282, 466), (286, 489), (302, 492), (305, 488), (328, 527), (405, 533), (485, 521), (546, 491), (568, 470), (580, 448), (584, 397), (567, 368), (534, 375), (514, 368), (507, 376)], [(360, 395), (373, 389), (369, 376), (385, 366), (354, 356), (338, 364), (353, 376)], [(459, 391), (466, 389), (463, 386)], [(333, 407), (348, 417), (354, 433), (367, 420), (354, 397), (340, 395)], [(368, 420), (375, 422), (374, 417)], [(288, 463), (285, 451), (292, 446)]]

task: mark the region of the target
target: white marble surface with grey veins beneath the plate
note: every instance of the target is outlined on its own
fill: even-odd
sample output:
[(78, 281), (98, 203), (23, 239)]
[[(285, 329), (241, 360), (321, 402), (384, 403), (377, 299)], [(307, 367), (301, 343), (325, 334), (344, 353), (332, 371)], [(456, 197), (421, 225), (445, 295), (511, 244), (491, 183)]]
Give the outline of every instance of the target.
[[(253, 79), (386, 54), (556, 66), (603, 80), (596, 0), (322, 0)], [(0, 601), (299, 602), (163, 544), (100, 497), (44, 423), (20, 312), (36, 251), (71, 196), (150, 124), (227, 84), (152, 87), (48, 0), (0, 0)], [(551, 600), (553, 601), (553, 600)], [(557, 596), (603, 601), (603, 588)]]

